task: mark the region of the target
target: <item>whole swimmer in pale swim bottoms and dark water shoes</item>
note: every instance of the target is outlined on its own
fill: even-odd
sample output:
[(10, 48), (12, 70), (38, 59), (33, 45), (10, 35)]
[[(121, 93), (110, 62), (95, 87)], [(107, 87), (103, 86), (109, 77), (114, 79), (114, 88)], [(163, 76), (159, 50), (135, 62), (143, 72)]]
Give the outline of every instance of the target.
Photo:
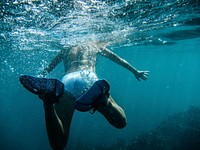
[[(99, 79), (95, 72), (100, 55), (129, 70), (138, 81), (147, 80), (149, 71), (137, 70), (106, 46), (95, 42), (62, 49), (39, 77), (20, 76), (22, 85), (43, 101), (47, 134), (54, 150), (67, 145), (74, 110), (98, 111), (114, 127), (126, 126), (126, 115), (110, 95), (108, 82)], [(61, 62), (65, 68), (62, 80), (45, 78)]]

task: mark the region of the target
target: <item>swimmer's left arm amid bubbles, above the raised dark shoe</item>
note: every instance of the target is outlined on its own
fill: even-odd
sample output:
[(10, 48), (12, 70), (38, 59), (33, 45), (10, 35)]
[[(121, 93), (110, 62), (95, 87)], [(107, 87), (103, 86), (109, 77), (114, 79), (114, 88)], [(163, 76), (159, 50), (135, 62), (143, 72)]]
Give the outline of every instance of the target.
[(63, 60), (63, 50), (61, 50), (57, 56), (48, 64), (46, 68), (42, 71), (42, 73), (39, 75), (41, 77), (46, 76), (48, 73), (50, 73), (61, 61)]

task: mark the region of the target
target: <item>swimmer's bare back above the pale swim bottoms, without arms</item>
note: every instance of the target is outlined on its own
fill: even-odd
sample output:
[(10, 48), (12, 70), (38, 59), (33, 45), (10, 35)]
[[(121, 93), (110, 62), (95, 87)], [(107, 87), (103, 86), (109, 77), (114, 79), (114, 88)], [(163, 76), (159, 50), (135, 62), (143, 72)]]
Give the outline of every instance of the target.
[(63, 62), (65, 72), (71, 73), (79, 70), (91, 70), (95, 72), (97, 47), (93, 45), (77, 45), (69, 50), (64, 50)]

